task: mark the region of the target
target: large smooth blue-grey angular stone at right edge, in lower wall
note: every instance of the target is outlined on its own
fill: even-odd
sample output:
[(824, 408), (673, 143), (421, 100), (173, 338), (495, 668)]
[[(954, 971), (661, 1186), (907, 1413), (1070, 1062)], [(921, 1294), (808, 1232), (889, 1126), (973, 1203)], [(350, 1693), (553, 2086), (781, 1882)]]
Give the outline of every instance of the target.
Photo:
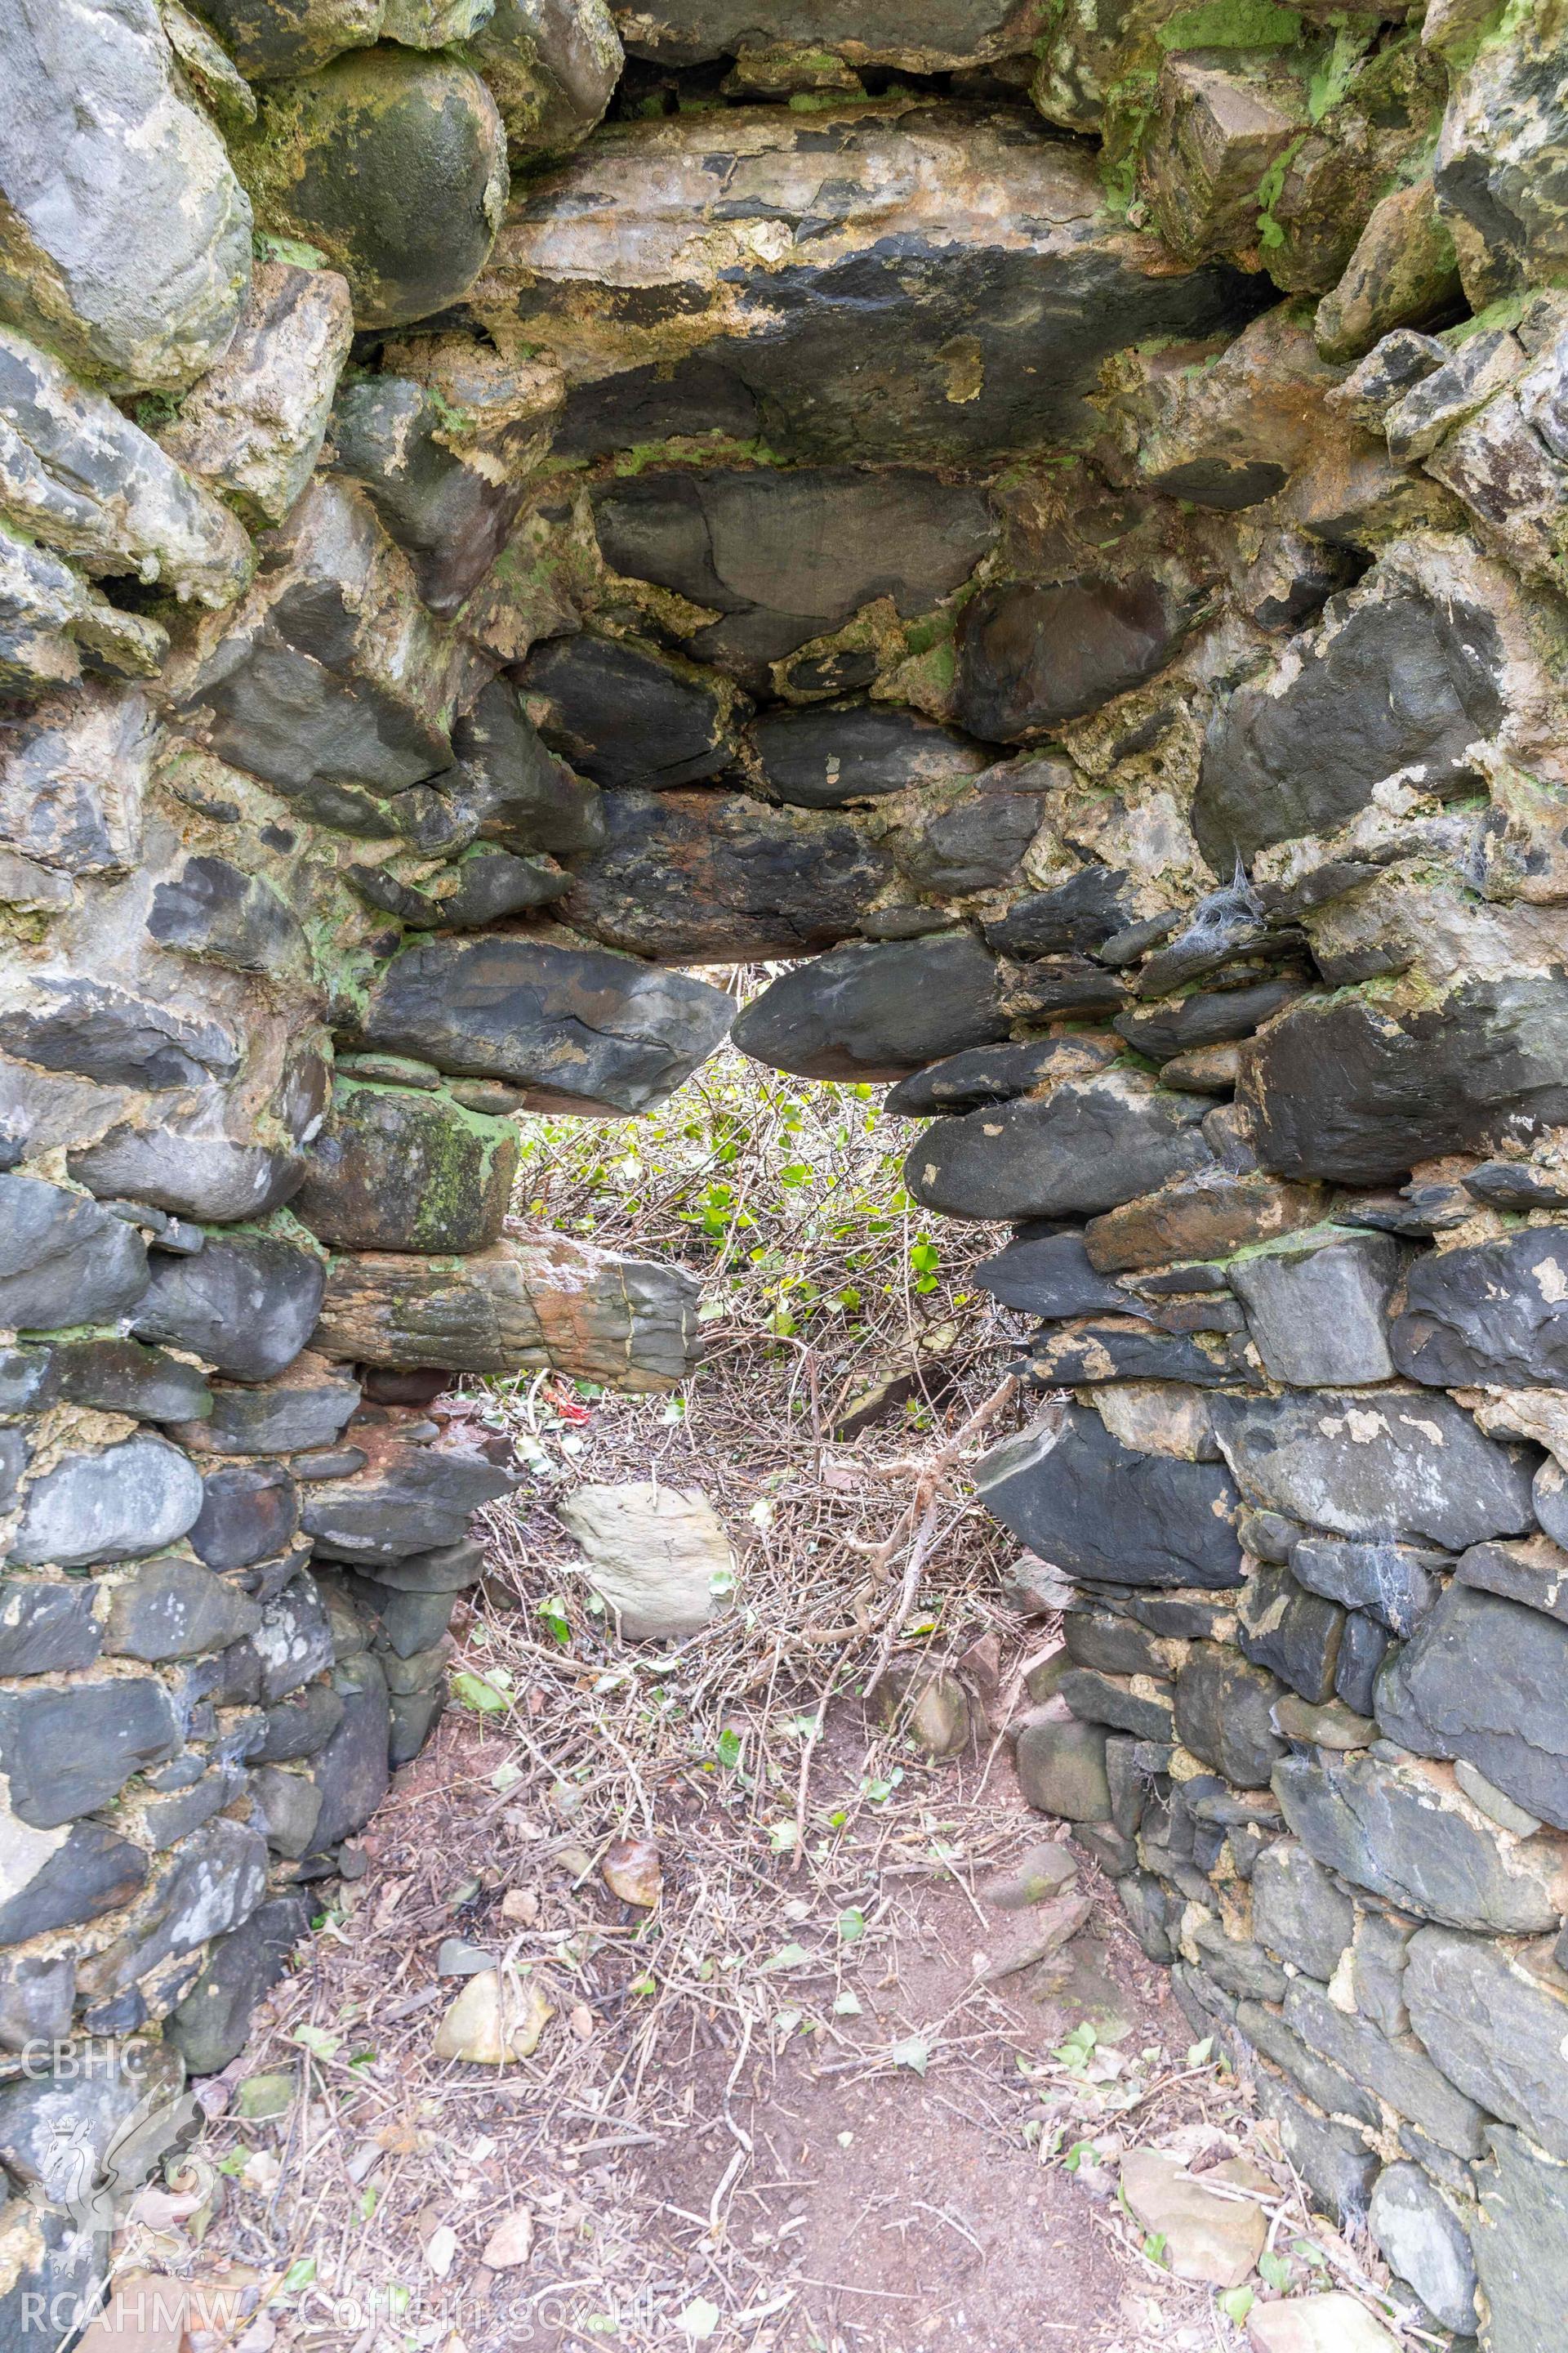
[(1448, 1586), (1378, 1678), (1378, 1725), (1418, 1755), (1465, 1758), (1568, 1831), (1568, 1626)]

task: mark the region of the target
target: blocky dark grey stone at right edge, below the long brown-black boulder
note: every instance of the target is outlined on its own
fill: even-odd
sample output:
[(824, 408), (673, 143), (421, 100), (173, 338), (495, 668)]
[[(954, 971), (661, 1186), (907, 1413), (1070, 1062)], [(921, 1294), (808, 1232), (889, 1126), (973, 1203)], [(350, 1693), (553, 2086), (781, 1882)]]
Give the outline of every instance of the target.
[(1568, 1228), (1420, 1257), (1392, 1348), (1434, 1388), (1568, 1386)]

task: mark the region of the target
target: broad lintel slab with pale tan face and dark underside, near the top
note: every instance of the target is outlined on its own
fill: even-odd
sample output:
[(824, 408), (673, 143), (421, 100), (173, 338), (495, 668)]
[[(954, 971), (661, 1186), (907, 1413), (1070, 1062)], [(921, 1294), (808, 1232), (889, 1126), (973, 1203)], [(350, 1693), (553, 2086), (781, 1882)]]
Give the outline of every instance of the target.
[[(757, 259), (736, 259), (741, 191), (773, 224)], [(1225, 268), (1150, 275), (1154, 247), (1095, 214), (1086, 155), (1001, 122), (672, 115), (611, 125), (543, 202), (515, 207), (477, 301), (559, 353), (569, 449), (710, 426), (752, 440), (766, 419), (788, 459), (875, 447), (919, 464), (1072, 433), (1107, 351), (1251, 311)], [(1011, 365), (1018, 315), (1074, 322), (1027, 379)]]

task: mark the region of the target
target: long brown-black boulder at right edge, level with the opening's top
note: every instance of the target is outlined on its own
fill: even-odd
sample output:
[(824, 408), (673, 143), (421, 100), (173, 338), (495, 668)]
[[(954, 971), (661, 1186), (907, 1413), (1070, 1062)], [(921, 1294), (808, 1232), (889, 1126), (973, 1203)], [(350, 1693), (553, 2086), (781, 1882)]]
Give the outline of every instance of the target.
[(1568, 1122), (1566, 1071), (1568, 984), (1519, 976), (1462, 981), (1415, 1012), (1305, 998), (1244, 1049), (1241, 1096), (1265, 1167), (1387, 1184), (1505, 1129)]

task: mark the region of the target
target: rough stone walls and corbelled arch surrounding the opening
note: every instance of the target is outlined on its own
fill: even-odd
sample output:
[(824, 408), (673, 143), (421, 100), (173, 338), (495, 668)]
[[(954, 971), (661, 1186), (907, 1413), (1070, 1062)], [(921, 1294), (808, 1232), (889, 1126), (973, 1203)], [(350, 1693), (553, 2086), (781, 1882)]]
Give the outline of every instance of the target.
[(440, 1711), (442, 1379), (693, 1362), (512, 1113), (778, 958), (738, 1045), (896, 1082), (1070, 1391), (1030, 1795), (1547, 2353), (1568, 14), (762, 14), (0, 33), (0, 2315), (101, 2254), (28, 2047), (96, 2153), (221, 2066)]

